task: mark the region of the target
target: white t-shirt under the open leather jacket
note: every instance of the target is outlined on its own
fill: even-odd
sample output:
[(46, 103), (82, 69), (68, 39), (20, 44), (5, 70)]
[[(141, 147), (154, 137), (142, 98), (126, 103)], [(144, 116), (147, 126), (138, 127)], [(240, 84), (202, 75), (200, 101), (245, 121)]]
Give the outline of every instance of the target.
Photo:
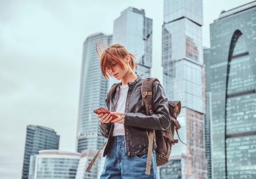
[[(125, 103), (126, 103), (128, 89), (129, 89), (128, 84), (120, 85), (120, 94), (119, 94), (119, 99), (117, 101), (116, 112), (120, 112), (120, 113), (125, 112)], [(119, 136), (119, 135), (124, 136), (124, 125), (114, 122), (114, 126), (115, 127), (113, 130), (113, 136)]]

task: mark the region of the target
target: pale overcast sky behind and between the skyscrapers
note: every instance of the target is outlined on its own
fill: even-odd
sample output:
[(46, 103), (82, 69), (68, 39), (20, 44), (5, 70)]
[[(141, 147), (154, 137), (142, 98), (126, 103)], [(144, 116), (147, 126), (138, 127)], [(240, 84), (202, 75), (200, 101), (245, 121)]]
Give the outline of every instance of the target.
[[(222, 10), (248, 0), (203, 1), (203, 46)], [(132, 6), (153, 19), (152, 77), (162, 80), (163, 0), (0, 0), (0, 178), (20, 178), (26, 126), (60, 135), (60, 150), (75, 151), (82, 43), (113, 33), (113, 21)]]

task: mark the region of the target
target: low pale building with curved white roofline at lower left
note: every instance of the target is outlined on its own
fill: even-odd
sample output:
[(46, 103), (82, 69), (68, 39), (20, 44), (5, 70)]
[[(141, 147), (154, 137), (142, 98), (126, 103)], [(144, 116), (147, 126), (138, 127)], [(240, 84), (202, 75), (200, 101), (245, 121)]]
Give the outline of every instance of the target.
[(76, 177), (81, 153), (59, 150), (40, 150), (31, 156), (34, 168), (29, 171), (29, 179), (63, 179)]

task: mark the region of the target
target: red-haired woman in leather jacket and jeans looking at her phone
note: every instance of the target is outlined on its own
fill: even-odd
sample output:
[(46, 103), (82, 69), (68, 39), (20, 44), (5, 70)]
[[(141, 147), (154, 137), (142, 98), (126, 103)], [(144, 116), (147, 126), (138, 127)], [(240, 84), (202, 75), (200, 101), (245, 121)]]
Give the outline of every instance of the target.
[[(103, 152), (105, 163), (100, 178), (157, 178), (156, 142), (153, 143), (150, 175), (145, 174), (148, 129), (165, 130), (170, 125), (168, 104), (163, 87), (153, 83), (152, 115), (145, 115), (140, 87), (143, 79), (135, 74), (135, 56), (120, 44), (99, 54), (102, 75), (121, 80), (109, 102), (111, 114), (100, 114), (100, 131), (108, 139)], [(106, 102), (107, 100), (105, 100)], [(118, 118), (112, 120), (111, 115)]]

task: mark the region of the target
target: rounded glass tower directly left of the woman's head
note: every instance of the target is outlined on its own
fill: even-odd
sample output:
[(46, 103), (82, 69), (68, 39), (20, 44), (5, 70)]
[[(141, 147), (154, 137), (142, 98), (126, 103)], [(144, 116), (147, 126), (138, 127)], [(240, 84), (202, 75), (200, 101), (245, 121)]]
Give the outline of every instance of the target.
[(83, 43), (80, 97), (77, 122), (77, 151), (99, 149), (104, 143), (100, 133), (99, 120), (93, 112), (105, 106), (108, 81), (102, 76), (96, 43), (99, 48), (111, 44), (112, 35), (92, 34)]

